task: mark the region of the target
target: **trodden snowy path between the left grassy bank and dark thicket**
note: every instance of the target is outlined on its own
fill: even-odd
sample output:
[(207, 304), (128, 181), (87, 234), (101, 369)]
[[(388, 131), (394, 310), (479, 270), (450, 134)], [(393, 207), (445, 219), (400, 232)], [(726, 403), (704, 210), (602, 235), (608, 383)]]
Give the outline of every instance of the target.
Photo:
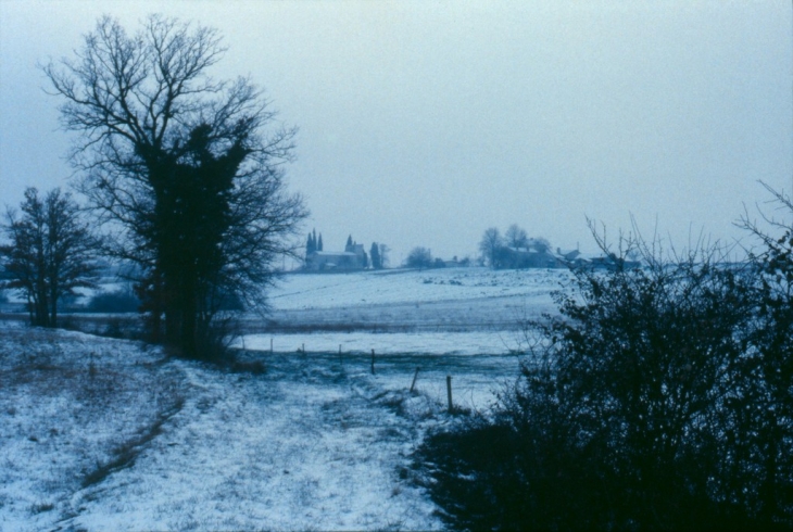
[(190, 383), (181, 410), (133, 467), (76, 493), (74, 517), (59, 528), (442, 527), (428, 497), (400, 479), (418, 429), (373, 379), (295, 355), (272, 358), (264, 376), (176, 364)]

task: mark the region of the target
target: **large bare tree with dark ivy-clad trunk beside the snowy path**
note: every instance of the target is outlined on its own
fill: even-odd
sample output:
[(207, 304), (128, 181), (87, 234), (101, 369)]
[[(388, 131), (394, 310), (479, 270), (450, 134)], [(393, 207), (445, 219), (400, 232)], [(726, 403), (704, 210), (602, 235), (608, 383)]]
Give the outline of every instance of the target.
[(75, 59), (43, 67), (108, 252), (140, 266), (155, 339), (188, 356), (230, 299), (264, 301), (307, 214), (284, 181), (295, 129), (250, 79), (210, 75), (224, 52), (212, 28), (151, 15), (128, 35), (105, 16)]

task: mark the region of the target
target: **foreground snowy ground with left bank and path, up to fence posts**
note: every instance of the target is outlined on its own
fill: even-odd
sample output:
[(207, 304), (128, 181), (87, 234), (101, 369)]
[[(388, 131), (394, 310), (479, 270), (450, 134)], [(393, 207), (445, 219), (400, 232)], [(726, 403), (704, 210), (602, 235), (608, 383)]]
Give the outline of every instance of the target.
[(2, 530), (439, 529), (411, 452), (452, 419), (446, 373), (458, 406), (506, 375), (502, 357), (383, 355), (373, 376), (370, 357), (338, 353), (232, 372), (0, 327)]

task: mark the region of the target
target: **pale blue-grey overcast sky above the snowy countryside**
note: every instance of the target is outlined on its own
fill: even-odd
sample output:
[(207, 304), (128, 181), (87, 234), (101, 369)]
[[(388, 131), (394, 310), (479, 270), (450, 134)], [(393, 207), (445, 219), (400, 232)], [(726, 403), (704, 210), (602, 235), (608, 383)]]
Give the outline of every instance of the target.
[(214, 74), (250, 74), (299, 126), (289, 187), (328, 251), (462, 257), (513, 223), (591, 250), (586, 216), (616, 233), (631, 214), (679, 246), (731, 241), (757, 180), (793, 186), (790, 1), (0, 0), (0, 203), (72, 174), (37, 64), (152, 12), (218, 28)]

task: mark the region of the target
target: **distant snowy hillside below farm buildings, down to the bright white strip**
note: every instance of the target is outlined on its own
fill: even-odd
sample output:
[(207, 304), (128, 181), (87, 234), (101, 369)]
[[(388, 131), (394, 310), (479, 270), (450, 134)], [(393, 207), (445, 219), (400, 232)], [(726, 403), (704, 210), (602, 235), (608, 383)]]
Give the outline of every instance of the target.
[(266, 321), (253, 332), (464, 332), (514, 330), (554, 312), (551, 292), (566, 269), (381, 270), (286, 276), (270, 291)]

